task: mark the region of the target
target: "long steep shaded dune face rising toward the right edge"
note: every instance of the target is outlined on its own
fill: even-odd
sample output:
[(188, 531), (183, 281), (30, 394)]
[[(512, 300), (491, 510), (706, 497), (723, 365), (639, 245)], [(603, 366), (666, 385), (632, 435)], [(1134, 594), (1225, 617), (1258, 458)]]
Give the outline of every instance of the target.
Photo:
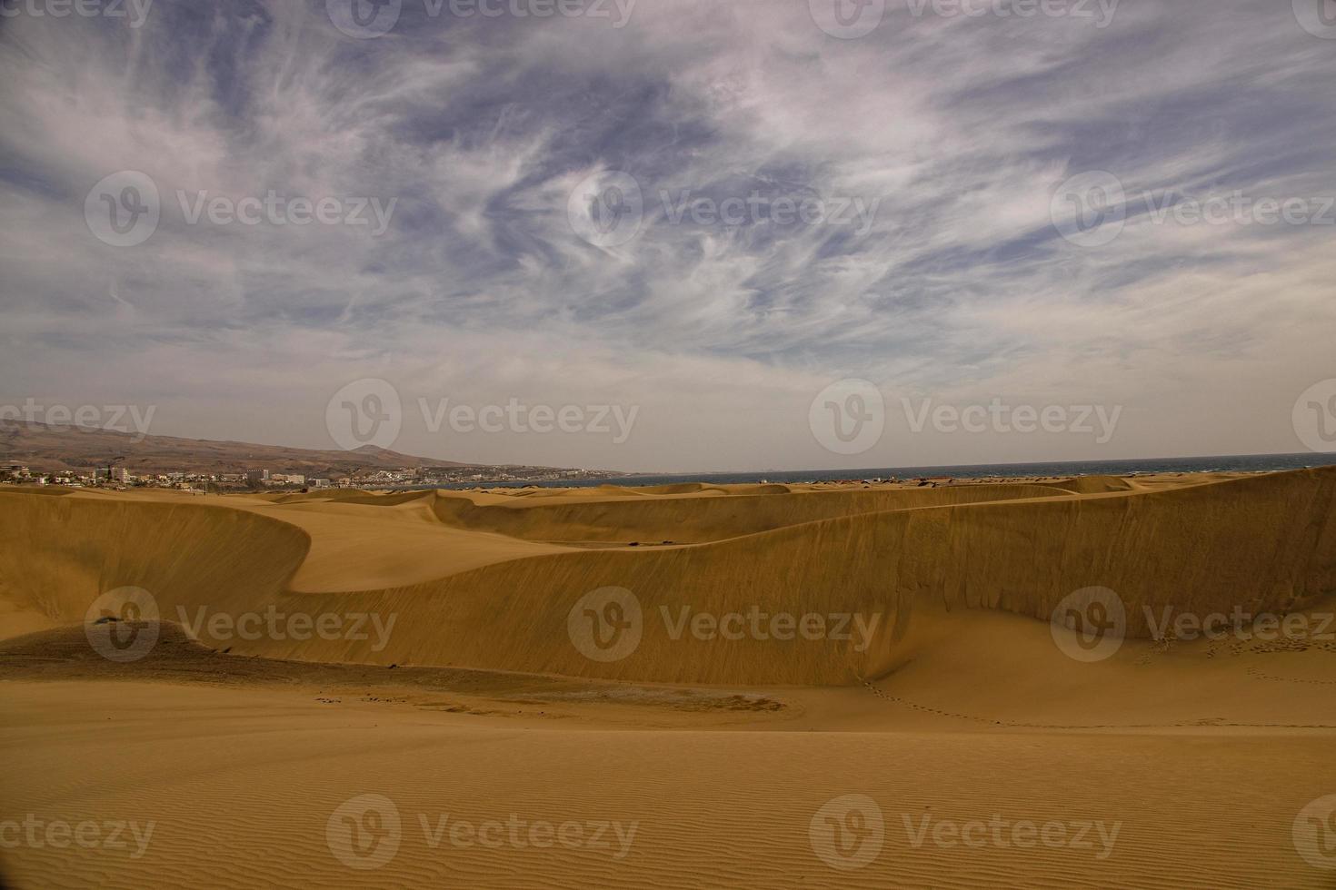
[[(383, 591), (377, 602), (414, 615), (401, 658), (418, 663), (438, 658), (430, 654), (434, 639), (453, 663), (485, 667), (673, 682), (850, 683), (891, 670), (912, 652), (915, 616), (1001, 608), (1047, 619), (1063, 596), (1092, 586), (1126, 600), (1132, 635), (1148, 632), (1142, 606), (1301, 608), (1336, 590), (1333, 480), (1331, 471), (1309, 471), (1133, 496), (886, 511), (699, 547), (502, 563)], [(607, 664), (582, 658), (564, 634), (572, 603), (605, 586), (631, 590), (647, 612), (636, 651)], [(673, 616), (683, 607), (721, 615), (752, 604), (770, 614), (883, 619), (866, 652), (828, 640), (672, 639), (657, 620), (661, 608)], [(450, 632), (486, 624), (506, 631), (485, 640)], [(433, 631), (420, 636), (413, 627)]]

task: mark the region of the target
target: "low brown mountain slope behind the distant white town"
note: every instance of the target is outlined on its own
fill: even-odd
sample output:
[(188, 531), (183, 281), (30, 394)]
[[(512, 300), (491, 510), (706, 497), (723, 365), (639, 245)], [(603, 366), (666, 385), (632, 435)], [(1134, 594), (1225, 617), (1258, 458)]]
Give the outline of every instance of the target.
[[(144, 436), (91, 427), (60, 427), (0, 420), (0, 462), (23, 463), (35, 471), (92, 470), (115, 463), (132, 474), (158, 472), (301, 472), (343, 476), (358, 471), (402, 467), (461, 468), (474, 464), (434, 460), (362, 446), (355, 451), (289, 448), (250, 442), (211, 442), (176, 436)], [(486, 467), (478, 467), (485, 470)]]

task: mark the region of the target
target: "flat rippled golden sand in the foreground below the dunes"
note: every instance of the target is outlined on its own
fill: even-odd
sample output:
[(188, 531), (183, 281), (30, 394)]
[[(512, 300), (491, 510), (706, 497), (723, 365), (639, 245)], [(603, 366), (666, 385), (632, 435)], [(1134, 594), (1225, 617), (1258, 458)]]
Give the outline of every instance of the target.
[[(12, 851), (5, 867), (23, 889), (1331, 886), (1291, 839), (1295, 814), (1336, 785), (1329, 733), (665, 731), (651, 721), (609, 731), (314, 690), (3, 691), (0, 755), (15, 769), (0, 793), (12, 811), (154, 826), (139, 858), (134, 843)], [(398, 846), (379, 867), (353, 870), (326, 826), (366, 794), (394, 807)], [(831, 867), (811, 839), (842, 795), (871, 801), (884, 823), (858, 870)], [(442, 818), (512, 817), (616, 822), (629, 843), (612, 830), (611, 843), (573, 849), (433, 835)], [(915, 843), (923, 819), (994, 818), (1117, 834), (1108, 847), (1093, 830), (1089, 846)]]

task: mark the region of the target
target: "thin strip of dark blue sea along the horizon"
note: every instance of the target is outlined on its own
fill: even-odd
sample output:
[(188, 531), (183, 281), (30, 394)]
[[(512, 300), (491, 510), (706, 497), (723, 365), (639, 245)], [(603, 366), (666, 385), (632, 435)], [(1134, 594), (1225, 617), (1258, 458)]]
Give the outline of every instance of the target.
[[(951, 476), (953, 479), (982, 479), (987, 476), (1125, 476), (1148, 472), (1268, 472), (1276, 470), (1303, 470), (1336, 464), (1336, 455), (1328, 454), (1263, 454), (1216, 458), (1141, 458), (1136, 460), (1077, 460), (1066, 463), (985, 463), (950, 467), (880, 467), (872, 470), (767, 470), (760, 472), (688, 472), (672, 475), (637, 474), (608, 479), (577, 479), (550, 482), (461, 482), (442, 488), (587, 488), (593, 486), (667, 486), (677, 482), (704, 482), (713, 484), (745, 482), (832, 482), (839, 479), (919, 479), (925, 476)], [(433, 486), (436, 487), (436, 486)]]

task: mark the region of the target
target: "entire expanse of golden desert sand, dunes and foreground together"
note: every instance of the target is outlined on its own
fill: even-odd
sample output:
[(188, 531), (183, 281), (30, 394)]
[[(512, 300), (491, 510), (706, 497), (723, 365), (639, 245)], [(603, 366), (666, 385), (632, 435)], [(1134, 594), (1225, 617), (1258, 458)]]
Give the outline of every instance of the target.
[(1333, 506), (1336, 468), (0, 490), (0, 871), (1336, 886)]

